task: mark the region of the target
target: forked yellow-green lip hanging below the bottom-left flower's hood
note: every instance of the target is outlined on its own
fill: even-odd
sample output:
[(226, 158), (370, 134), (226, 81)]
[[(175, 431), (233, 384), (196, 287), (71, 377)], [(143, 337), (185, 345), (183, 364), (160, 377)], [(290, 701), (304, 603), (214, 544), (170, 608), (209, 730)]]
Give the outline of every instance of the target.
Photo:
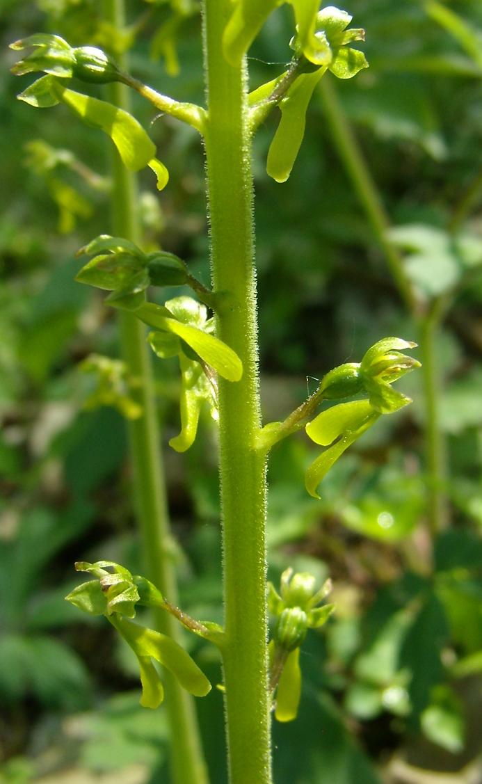
[[(144, 662), (145, 659), (155, 659), (176, 677), (183, 688), (196, 697), (204, 697), (211, 690), (211, 684), (202, 670), (171, 637), (119, 618), (111, 618), (111, 622), (138, 659), (144, 659)], [(154, 672), (157, 674), (156, 670)], [(147, 673), (147, 676), (152, 678), (152, 673)], [(145, 691), (143, 699), (148, 699)], [(157, 705), (147, 704), (147, 707)]]

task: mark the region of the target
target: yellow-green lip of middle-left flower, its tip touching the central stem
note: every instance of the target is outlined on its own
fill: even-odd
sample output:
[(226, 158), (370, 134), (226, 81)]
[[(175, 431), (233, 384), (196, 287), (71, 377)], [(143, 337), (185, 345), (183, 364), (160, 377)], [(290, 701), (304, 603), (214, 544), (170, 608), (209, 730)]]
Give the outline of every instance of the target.
[(228, 381), (241, 379), (243, 368), (240, 358), (226, 343), (215, 336), (209, 335), (208, 332), (203, 332), (197, 327), (177, 321), (172, 318), (172, 314), (167, 308), (154, 303), (144, 303), (136, 311), (136, 316), (150, 327), (171, 332), (183, 339), (202, 360), (219, 373), (219, 376), (223, 376)]

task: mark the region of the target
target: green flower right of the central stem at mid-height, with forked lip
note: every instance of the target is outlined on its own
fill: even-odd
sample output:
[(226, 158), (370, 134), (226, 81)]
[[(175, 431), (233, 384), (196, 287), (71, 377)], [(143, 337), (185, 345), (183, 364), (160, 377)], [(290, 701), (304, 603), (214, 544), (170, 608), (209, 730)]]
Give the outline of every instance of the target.
[(364, 392), (368, 400), (340, 403), (318, 414), (306, 425), (306, 434), (315, 444), (327, 446), (306, 471), (306, 490), (320, 498), (317, 486), (343, 452), (357, 441), (382, 414), (392, 414), (411, 403), (390, 384), (405, 373), (420, 367), (420, 362), (400, 353), (402, 348), (415, 348), (400, 338), (384, 338), (375, 343), (360, 364), (350, 362), (327, 373), (321, 382), (321, 397), (333, 399)]

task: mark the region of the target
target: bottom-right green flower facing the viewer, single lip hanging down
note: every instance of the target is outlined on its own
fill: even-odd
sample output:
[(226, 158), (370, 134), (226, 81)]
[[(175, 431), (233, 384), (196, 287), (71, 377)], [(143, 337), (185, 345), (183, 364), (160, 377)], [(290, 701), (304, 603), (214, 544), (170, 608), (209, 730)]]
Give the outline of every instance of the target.
[(316, 580), (308, 572), (293, 575), (288, 568), (281, 575), (281, 595), (268, 583), (268, 608), (275, 616), (270, 641), (270, 688), (276, 690), (274, 715), (278, 721), (292, 721), (298, 713), (301, 695), (299, 647), (308, 629), (319, 629), (335, 609), (333, 604), (317, 607), (332, 590), (331, 580), (315, 590)]

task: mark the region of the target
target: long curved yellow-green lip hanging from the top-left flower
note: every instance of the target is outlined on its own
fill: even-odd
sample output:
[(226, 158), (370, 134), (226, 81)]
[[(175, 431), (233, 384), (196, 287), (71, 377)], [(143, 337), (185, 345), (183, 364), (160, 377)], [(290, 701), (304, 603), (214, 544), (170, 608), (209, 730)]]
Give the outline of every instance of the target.
[(111, 136), (127, 169), (137, 172), (150, 165), (156, 147), (142, 125), (112, 103), (76, 93), (53, 82), (54, 95), (82, 120)]

